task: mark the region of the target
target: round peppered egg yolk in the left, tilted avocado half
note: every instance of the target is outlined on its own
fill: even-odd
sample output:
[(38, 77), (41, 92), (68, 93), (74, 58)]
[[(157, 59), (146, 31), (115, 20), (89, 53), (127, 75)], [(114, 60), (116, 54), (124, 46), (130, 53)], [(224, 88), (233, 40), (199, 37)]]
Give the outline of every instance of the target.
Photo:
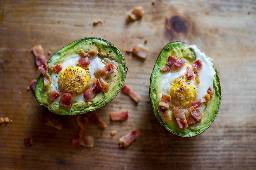
[(86, 71), (79, 66), (65, 69), (59, 77), (59, 89), (64, 93), (79, 94), (86, 88), (88, 82)]

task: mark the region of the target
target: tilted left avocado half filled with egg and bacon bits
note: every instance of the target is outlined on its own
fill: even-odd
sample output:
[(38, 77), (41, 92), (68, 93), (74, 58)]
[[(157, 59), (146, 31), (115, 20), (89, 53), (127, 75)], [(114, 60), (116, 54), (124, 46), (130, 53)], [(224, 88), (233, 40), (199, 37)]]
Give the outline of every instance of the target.
[[(62, 67), (58, 72), (54, 70), (57, 63)], [(123, 87), (127, 73), (121, 51), (104, 39), (92, 37), (64, 46), (47, 65), (52, 82), (45, 85), (45, 76), (41, 74), (35, 98), (40, 105), (60, 115), (87, 113), (107, 104)]]

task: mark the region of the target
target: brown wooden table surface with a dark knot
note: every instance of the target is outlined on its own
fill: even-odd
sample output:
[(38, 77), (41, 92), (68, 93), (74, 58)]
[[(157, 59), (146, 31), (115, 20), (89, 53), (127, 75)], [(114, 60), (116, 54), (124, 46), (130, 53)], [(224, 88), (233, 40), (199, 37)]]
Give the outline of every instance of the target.
[[(127, 12), (142, 5), (141, 20), (128, 22)], [(93, 26), (94, 20), (103, 24)], [(102, 131), (89, 123), (93, 148), (74, 148), (79, 132), (75, 117), (63, 117), (63, 129), (46, 126), (27, 86), (39, 72), (31, 48), (41, 44), (54, 54), (76, 39), (95, 36), (114, 43), (128, 66), (125, 84), (141, 96), (135, 105), (119, 93), (97, 110)], [(144, 43), (145, 61), (125, 53)], [(168, 132), (153, 114), (148, 95), (150, 74), (162, 47), (181, 40), (196, 44), (214, 59), (222, 85), (222, 103), (214, 123), (203, 134), (181, 138)], [(0, 0), (0, 169), (256, 169), (256, 1), (253, 0)], [(50, 58), (50, 56), (47, 56)], [(123, 123), (112, 123), (110, 111), (129, 111)], [(141, 135), (126, 149), (121, 136), (137, 128)], [(115, 136), (110, 132), (117, 130)], [(23, 138), (31, 136), (26, 148)]]

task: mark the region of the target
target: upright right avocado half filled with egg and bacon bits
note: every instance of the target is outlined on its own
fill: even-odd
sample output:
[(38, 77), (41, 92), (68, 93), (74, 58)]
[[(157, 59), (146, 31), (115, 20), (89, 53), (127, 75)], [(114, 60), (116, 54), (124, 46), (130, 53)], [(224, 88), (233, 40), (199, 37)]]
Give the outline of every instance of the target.
[[(202, 67), (195, 72), (196, 65), (193, 66), (193, 63), (197, 60), (201, 61)], [(187, 75), (187, 67), (190, 67), (191, 74)], [(195, 80), (197, 76), (199, 81)], [(214, 92), (211, 96), (208, 87)], [(149, 93), (158, 121), (168, 131), (182, 137), (199, 135), (210, 127), (221, 103), (220, 80), (212, 59), (197, 49), (196, 45), (184, 42), (172, 42), (162, 49), (151, 74)], [(167, 100), (162, 100), (167, 103), (165, 107), (159, 103), (163, 94), (169, 95)], [(207, 101), (207, 97), (210, 100)], [(201, 105), (192, 105), (196, 104), (195, 101)]]

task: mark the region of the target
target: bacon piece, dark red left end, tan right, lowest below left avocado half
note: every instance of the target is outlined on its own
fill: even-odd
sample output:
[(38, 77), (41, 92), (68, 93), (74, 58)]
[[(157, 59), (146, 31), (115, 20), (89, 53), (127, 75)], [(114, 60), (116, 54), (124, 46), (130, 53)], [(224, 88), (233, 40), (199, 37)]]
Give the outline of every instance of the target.
[(74, 136), (72, 138), (72, 143), (75, 148), (78, 148), (79, 146), (86, 146), (86, 147), (93, 147), (94, 145), (94, 138), (93, 136)]

